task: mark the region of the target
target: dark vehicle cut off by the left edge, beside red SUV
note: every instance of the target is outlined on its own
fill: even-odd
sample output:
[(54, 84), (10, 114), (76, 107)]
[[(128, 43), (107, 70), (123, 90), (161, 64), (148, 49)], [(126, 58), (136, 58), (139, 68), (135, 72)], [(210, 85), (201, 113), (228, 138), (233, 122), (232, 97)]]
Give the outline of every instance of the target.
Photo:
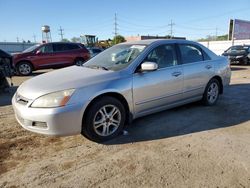
[(13, 75), (12, 56), (0, 49), (0, 91), (9, 87), (7, 77)]

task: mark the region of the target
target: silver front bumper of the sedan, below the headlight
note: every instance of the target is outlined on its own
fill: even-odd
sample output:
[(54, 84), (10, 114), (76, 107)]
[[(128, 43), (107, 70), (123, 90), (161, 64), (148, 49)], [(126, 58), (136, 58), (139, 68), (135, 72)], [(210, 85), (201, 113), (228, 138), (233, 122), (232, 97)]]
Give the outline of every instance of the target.
[(67, 136), (81, 133), (82, 105), (74, 104), (58, 108), (30, 108), (29, 104), (16, 102), (12, 106), (18, 123), (25, 129), (55, 136)]

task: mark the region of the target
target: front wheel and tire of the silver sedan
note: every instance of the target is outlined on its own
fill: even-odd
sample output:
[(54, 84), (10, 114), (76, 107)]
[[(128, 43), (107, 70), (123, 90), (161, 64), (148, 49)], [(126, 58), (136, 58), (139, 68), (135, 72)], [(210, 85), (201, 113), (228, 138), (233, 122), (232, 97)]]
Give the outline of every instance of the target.
[(82, 123), (82, 134), (94, 142), (108, 141), (122, 131), (125, 118), (125, 108), (119, 100), (102, 97), (88, 108)]

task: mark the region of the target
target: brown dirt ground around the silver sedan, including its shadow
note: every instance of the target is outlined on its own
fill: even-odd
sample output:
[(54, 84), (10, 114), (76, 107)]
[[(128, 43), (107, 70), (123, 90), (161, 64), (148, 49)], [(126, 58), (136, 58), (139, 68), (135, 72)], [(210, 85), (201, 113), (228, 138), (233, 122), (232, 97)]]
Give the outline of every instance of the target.
[(0, 187), (250, 187), (250, 67), (232, 70), (216, 106), (140, 118), (105, 144), (28, 132), (0, 94)]

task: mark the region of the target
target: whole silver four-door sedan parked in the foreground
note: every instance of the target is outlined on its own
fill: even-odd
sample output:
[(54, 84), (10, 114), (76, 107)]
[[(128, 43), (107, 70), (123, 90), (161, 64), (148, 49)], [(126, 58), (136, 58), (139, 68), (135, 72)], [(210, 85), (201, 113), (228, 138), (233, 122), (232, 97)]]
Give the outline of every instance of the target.
[(196, 42), (143, 40), (36, 76), (21, 84), (12, 103), (27, 130), (102, 142), (147, 114), (199, 100), (214, 105), (230, 77), (228, 60)]

